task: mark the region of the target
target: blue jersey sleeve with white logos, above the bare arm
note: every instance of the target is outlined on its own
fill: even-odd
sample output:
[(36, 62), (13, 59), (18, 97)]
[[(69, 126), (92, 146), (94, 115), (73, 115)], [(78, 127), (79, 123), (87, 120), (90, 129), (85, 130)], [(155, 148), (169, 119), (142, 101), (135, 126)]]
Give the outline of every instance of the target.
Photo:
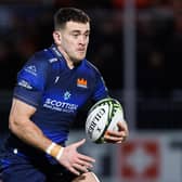
[(48, 65), (32, 56), (17, 73), (13, 96), (37, 107), (46, 86)]

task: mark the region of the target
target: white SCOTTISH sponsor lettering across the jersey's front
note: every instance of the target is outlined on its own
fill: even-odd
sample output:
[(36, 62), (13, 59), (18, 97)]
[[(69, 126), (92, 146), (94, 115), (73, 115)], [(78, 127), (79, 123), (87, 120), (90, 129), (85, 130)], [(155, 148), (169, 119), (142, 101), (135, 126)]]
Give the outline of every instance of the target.
[(75, 113), (78, 108), (78, 105), (48, 98), (43, 104), (43, 107), (57, 112)]

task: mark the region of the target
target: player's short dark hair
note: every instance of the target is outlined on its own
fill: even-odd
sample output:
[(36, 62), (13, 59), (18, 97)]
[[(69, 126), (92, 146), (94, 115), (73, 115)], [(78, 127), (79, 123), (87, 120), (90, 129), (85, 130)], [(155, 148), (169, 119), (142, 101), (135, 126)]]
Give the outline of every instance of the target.
[(62, 8), (54, 14), (54, 29), (64, 28), (69, 21), (77, 23), (90, 23), (90, 17), (82, 10), (76, 8)]

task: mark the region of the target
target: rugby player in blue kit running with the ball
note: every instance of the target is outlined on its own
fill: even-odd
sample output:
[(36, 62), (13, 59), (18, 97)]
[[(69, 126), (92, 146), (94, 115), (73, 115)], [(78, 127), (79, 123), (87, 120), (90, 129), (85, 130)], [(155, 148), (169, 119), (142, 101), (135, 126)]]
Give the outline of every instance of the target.
[[(4, 182), (98, 182), (94, 158), (77, 151), (84, 139), (65, 145), (78, 110), (108, 96), (99, 70), (89, 63), (90, 18), (64, 8), (54, 15), (54, 44), (35, 53), (17, 75), (9, 128), (1, 154)], [(127, 123), (105, 140), (121, 143)]]

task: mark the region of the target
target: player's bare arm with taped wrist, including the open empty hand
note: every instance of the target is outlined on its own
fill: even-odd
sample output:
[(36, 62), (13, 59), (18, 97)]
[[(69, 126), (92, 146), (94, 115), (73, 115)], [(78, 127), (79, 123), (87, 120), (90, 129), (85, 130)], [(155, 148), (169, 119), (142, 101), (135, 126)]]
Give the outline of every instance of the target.
[[(35, 112), (36, 108), (34, 106), (21, 100), (13, 99), (9, 128), (25, 143), (47, 153), (48, 148), (52, 145), (52, 141), (30, 120)], [(83, 143), (84, 140), (81, 140), (66, 147), (55, 144), (50, 151), (50, 155), (75, 174), (80, 174), (80, 171), (87, 172), (88, 168), (92, 167), (94, 159), (77, 152), (77, 148)], [(60, 150), (62, 150), (62, 155), (57, 158)]]

